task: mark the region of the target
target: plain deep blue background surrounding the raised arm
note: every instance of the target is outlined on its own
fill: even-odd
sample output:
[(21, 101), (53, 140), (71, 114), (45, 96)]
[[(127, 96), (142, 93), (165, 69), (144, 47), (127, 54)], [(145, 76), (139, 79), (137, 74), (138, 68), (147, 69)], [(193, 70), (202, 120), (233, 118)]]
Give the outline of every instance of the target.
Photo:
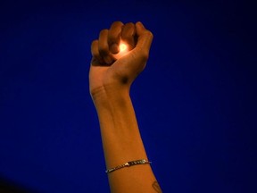
[(1, 1), (0, 176), (38, 192), (108, 192), (88, 92), (112, 21), (154, 39), (131, 97), (163, 192), (256, 192), (253, 4)]

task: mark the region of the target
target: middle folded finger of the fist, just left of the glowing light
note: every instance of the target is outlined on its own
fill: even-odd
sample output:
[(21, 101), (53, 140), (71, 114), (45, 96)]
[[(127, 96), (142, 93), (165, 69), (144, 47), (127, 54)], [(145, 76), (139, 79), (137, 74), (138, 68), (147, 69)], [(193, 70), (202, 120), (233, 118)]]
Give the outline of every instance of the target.
[(109, 29), (108, 43), (112, 54), (117, 54), (119, 52), (120, 34), (123, 25), (122, 22), (115, 21)]

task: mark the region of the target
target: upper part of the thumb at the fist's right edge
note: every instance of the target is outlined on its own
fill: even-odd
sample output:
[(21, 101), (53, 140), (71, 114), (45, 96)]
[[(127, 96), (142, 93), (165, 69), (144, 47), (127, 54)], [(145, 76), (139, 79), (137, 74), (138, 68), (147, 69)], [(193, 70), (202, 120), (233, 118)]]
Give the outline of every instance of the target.
[(136, 32), (138, 37), (136, 48), (138, 51), (143, 51), (145, 56), (148, 56), (153, 41), (153, 33), (145, 29), (140, 21), (136, 23)]

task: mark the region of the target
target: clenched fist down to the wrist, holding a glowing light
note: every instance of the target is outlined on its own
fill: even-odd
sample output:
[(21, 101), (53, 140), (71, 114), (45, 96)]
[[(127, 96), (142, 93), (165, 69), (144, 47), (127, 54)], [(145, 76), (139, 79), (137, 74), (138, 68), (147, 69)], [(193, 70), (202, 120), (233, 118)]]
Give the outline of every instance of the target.
[[(129, 47), (128, 53), (120, 58), (120, 40)], [(98, 40), (92, 42), (93, 55), (89, 71), (90, 93), (94, 98), (99, 92), (109, 89), (129, 91), (137, 75), (145, 69), (153, 34), (141, 22), (112, 23), (110, 29), (103, 29)]]

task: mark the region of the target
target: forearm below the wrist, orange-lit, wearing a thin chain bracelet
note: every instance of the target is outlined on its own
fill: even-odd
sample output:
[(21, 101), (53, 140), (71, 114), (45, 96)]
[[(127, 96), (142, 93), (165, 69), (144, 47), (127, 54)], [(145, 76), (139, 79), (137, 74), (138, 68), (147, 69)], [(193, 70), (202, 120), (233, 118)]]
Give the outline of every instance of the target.
[[(147, 159), (129, 91), (103, 88), (94, 97), (106, 167)], [(108, 176), (112, 192), (161, 192), (152, 187), (156, 180), (150, 164), (122, 168)]]

